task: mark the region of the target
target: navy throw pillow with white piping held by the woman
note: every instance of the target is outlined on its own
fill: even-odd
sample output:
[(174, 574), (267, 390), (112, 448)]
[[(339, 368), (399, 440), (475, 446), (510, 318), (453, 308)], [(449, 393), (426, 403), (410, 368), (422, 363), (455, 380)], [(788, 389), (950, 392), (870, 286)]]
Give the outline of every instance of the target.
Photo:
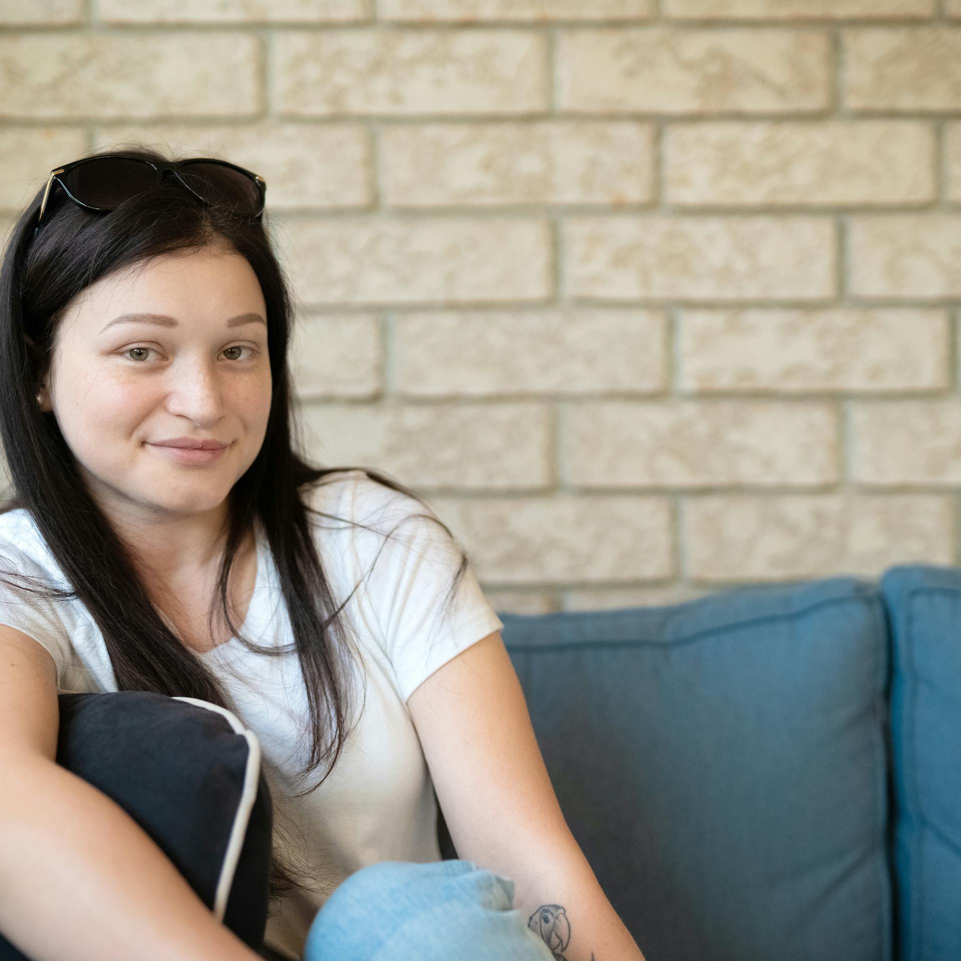
[[(151, 691), (60, 695), (57, 763), (118, 803), (254, 950), (267, 924), (273, 807), (253, 731)], [(0, 935), (0, 961), (26, 955)]]

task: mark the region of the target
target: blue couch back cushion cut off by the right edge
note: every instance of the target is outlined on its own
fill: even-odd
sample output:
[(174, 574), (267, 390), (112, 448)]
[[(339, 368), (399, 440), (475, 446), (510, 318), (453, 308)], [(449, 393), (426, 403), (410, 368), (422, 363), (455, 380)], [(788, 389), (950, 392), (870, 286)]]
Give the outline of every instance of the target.
[(898, 941), (903, 961), (961, 958), (961, 571), (889, 570)]

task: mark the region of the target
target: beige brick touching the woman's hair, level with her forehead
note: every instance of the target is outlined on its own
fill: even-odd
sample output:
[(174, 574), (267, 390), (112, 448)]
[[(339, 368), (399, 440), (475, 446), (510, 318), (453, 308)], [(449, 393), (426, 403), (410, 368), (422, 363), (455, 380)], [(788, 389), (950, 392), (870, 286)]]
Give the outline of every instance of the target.
[(541, 220), (298, 219), (275, 240), (305, 305), (543, 301), (552, 293), (551, 231)]

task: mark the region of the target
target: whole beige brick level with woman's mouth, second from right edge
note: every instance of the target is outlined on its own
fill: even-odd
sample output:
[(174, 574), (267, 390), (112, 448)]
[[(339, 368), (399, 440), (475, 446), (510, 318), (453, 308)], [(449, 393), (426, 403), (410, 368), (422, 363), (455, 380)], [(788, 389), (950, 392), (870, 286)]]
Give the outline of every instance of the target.
[(819, 402), (587, 402), (568, 412), (565, 477), (585, 486), (818, 485), (838, 424)]

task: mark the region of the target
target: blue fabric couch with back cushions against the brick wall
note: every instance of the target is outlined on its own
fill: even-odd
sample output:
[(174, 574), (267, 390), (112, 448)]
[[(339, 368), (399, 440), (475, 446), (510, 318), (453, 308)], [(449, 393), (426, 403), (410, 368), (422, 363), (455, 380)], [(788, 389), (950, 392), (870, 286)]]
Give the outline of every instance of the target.
[(647, 961), (961, 961), (961, 571), (501, 617)]

